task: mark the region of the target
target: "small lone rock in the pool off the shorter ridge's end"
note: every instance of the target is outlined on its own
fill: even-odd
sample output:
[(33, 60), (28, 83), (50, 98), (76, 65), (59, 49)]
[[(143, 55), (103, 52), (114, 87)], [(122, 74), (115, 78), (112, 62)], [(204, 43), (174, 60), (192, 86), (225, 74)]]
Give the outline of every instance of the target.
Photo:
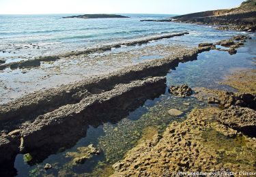
[(171, 86), (169, 88), (169, 93), (178, 97), (186, 97), (192, 95), (193, 91), (188, 85), (182, 84), (181, 86)]

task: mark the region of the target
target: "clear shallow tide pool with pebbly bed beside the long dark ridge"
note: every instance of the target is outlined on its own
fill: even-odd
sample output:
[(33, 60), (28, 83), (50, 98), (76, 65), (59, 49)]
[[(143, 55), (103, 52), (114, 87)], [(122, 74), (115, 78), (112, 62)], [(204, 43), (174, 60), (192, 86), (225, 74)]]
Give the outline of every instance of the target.
[[(218, 84), (225, 76), (231, 74), (233, 69), (255, 68), (254, 50), (255, 39), (242, 48), (238, 53), (230, 55), (228, 52), (211, 50), (199, 54), (196, 61), (180, 63), (180, 65), (167, 74), (167, 88), (175, 84), (188, 84), (190, 87), (203, 86), (206, 88), (224, 89), (234, 91), (230, 86)], [(205, 108), (207, 103), (195, 97), (179, 98), (166, 92), (153, 100), (145, 101), (144, 105), (117, 123), (103, 123), (98, 127), (89, 126), (84, 138), (81, 138), (72, 148), (61, 150), (48, 156), (44, 161), (28, 164), (23, 155), (17, 155), (15, 161), (18, 176), (42, 176), (83, 174), (84, 176), (97, 176), (102, 164), (109, 167), (111, 164), (124, 157), (126, 152), (137, 144), (148, 127), (154, 127), (160, 133), (174, 120), (182, 121), (194, 108)], [(176, 108), (184, 112), (181, 116), (170, 116), (168, 110)], [(100, 155), (94, 155), (82, 165), (72, 165), (72, 158), (67, 157), (67, 152), (76, 152), (78, 147), (94, 144), (100, 149)], [(53, 165), (51, 170), (44, 170), (44, 165)], [(94, 172), (94, 175), (91, 173)]]

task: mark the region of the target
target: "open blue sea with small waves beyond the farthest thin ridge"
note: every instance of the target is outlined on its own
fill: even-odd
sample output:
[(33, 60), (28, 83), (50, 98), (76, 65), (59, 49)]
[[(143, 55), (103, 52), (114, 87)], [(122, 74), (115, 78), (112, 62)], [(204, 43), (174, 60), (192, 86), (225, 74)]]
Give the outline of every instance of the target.
[(124, 14), (130, 18), (62, 18), (70, 15), (74, 14), (0, 15), (0, 58), (29, 59), (159, 33), (189, 31), (188, 37), (180, 37), (175, 41), (189, 45), (218, 40), (233, 33), (175, 22), (140, 22), (142, 19), (164, 19), (173, 15)]

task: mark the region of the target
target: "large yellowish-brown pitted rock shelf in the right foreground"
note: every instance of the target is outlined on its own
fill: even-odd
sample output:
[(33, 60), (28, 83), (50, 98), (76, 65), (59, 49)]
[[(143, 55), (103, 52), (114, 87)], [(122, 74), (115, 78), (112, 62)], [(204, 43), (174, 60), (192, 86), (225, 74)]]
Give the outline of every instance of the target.
[[(171, 176), (177, 172), (214, 172), (222, 168), (231, 172), (255, 171), (256, 140), (223, 127), (216, 131), (215, 117), (220, 111), (193, 110), (184, 122), (171, 123), (162, 138), (155, 135), (145, 140), (115, 163), (113, 176)], [(226, 137), (222, 132), (234, 136)]]

